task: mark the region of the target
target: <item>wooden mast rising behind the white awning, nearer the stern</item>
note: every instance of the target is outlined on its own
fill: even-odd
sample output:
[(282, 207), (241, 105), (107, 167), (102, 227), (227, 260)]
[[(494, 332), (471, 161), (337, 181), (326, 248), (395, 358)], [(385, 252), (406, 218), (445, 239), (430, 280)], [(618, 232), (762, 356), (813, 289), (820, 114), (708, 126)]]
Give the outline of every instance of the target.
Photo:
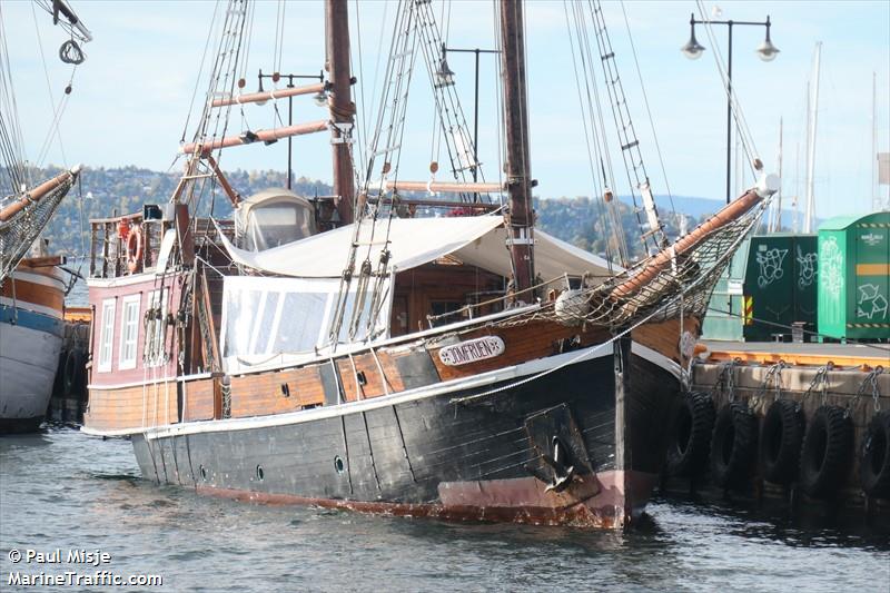
[(349, 13), (347, 0), (325, 0), (325, 30), (327, 37), (327, 71), (330, 79), (330, 141), (334, 151), (334, 195), (338, 196), (337, 211), (343, 224), (353, 221), (353, 160), (349, 155), (355, 105), (352, 100), (349, 73)]

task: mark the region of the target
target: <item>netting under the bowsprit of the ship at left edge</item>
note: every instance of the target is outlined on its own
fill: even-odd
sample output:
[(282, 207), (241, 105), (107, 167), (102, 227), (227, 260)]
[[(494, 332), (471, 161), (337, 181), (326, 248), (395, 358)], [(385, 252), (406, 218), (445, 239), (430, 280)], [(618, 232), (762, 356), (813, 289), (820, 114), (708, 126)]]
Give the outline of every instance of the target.
[[(47, 226), (62, 198), (71, 190), (75, 179), (75, 176), (69, 177), (40, 200), (30, 202), (12, 218), (0, 223), (0, 284), (16, 269), (31, 248), (31, 244)], [(11, 204), (12, 200), (8, 202)]]

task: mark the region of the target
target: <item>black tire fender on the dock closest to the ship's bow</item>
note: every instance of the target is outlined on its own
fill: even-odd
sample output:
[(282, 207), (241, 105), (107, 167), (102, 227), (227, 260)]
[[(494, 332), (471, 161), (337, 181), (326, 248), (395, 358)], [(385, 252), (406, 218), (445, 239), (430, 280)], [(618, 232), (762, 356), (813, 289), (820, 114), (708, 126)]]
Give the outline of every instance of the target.
[(683, 395), (671, 422), (665, 463), (668, 475), (694, 477), (708, 468), (715, 415), (709, 394), (691, 392)]

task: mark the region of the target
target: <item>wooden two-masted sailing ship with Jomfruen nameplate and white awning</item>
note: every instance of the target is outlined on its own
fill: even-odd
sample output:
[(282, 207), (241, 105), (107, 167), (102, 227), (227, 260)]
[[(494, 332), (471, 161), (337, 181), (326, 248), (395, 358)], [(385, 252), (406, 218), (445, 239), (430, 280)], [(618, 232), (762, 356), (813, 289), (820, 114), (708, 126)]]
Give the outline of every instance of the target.
[[(346, 9), (325, 2), (329, 80), (289, 90), (328, 91), (328, 120), (199, 132), (170, 204), (92, 221), (83, 429), (129, 437), (145, 477), (212, 495), (627, 524), (657, 478), (710, 290), (770, 184), (626, 270), (535, 230), (523, 6), (502, 0), (508, 208), (471, 198), (461, 214), (478, 216), (412, 217), (419, 200), (398, 191), (414, 185), (502, 187), (387, 180), (384, 164), (355, 188)], [(234, 85), (207, 109), (276, 93)], [(320, 130), (328, 200), (244, 200), (214, 158)], [(218, 184), (235, 223), (191, 215), (195, 179)]]

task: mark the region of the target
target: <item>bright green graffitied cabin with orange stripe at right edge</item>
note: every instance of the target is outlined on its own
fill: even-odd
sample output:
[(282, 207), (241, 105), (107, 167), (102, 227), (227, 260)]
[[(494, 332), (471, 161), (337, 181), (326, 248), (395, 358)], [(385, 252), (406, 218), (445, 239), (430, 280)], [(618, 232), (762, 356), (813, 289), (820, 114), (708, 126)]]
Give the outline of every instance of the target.
[(890, 213), (838, 217), (819, 227), (819, 333), (890, 339)]

